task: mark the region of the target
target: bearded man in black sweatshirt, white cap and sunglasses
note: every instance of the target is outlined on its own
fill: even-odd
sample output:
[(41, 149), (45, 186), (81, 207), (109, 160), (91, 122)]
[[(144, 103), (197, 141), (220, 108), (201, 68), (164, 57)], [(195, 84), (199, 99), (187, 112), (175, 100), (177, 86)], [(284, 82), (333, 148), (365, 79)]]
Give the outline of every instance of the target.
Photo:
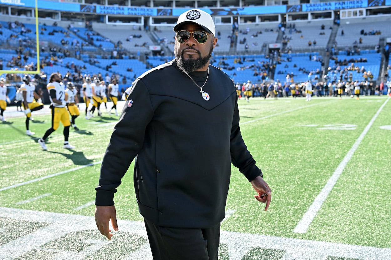
[(154, 260), (217, 260), (231, 162), (253, 185), (271, 189), (239, 129), (232, 80), (209, 65), (216, 46), (212, 17), (187, 11), (174, 27), (173, 61), (138, 77), (111, 135), (96, 187), (95, 221), (118, 230), (114, 193), (136, 158), (134, 183)]

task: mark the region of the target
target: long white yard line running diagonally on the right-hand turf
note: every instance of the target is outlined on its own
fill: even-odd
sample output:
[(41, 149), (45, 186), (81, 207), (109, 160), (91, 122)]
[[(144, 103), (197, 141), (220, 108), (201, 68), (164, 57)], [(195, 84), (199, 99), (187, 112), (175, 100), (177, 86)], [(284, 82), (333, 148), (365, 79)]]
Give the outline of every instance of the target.
[(383, 103), (383, 105), (377, 110), (376, 114), (373, 116), (371, 121), (369, 121), (368, 125), (365, 127), (364, 131), (362, 131), (361, 135), (355, 143), (353, 144), (352, 148), (348, 151), (348, 153), (343, 158), (342, 162), (339, 164), (337, 169), (334, 171), (333, 175), (330, 177), (328, 182), (326, 183), (325, 187), (321, 190), (321, 192), (318, 194), (318, 196), (315, 198), (312, 205), (308, 208), (307, 212), (305, 212), (303, 218), (300, 220), (300, 222), (297, 224), (296, 228), (293, 230), (295, 233), (305, 233), (307, 232), (308, 227), (310, 226), (312, 220), (314, 220), (315, 215), (321, 208), (323, 202), (325, 202), (328, 194), (330, 194), (331, 190), (333, 189), (335, 183), (337, 183), (337, 180), (339, 176), (341, 176), (342, 171), (345, 169), (346, 165), (348, 164), (349, 160), (352, 158), (353, 153), (357, 150), (359, 147), (362, 139), (364, 139), (365, 135), (368, 133), (369, 128), (373, 125), (373, 122), (375, 122), (377, 116), (380, 114), (380, 111), (382, 111), (383, 107), (387, 104), (388, 100), (390, 98), (387, 98), (386, 101)]

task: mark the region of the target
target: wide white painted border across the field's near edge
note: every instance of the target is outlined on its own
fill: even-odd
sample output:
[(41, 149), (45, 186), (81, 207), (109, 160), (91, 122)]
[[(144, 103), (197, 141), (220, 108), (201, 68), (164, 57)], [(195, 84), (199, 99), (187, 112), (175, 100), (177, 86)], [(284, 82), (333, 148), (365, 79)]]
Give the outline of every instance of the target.
[[(17, 224), (17, 221), (33, 221), (48, 223), (49, 225), (31, 233), (26, 232), (20, 237), (0, 245), (0, 259), (2, 260), (13, 260), (20, 258), (22, 255), (24, 255), (25, 260), (34, 260), (33, 258), (28, 258), (29, 256), (26, 253), (32, 250), (52, 250), (44, 245), (66, 235), (72, 237), (76, 232), (83, 230), (99, 234), (93, 216), (0, 207), (0, 218), (3, 217), (13, 219), (16, 221), (14, 224)], [(124, 233), (127, 233), (140, 235), (147, 241), (147, 233), (145, 232), (143, 222), (118, 219), (118, 227), (122, 233), (115, 232), (113, 234), (113, 240), (120, 239), (120, 236), (126, 235)], [(61, 240), (61, 242), (64, 245), (69, 243), (66, 240)], [(91, 242), (93, 242), (93, 246), (90, 245)], [(85, 243), (85, 245), (81, 245), (83, 246), (81, 252), (57, 248), (56, 253), (64, 256), (61, 259), (83, 260), (93, 253), (96, 254), (104, 246), (109, 246), (111, 242), (109, 240), (93, 239), (86, 235), (86, 237), (83, 237), (83, 244)], [(239, 232), (222, 231), (220, 242), (221, 244), (226, 244), (230, 260), (243, 259), (252, 248), (285, 251), (283, 260), (325, 260), (327, 256), (357, 258), (361, 260), (391, 259), (391, 248), (375, 248), (371, 246), (357, 246), (287, 237), (271, 237)], [(107, 260), (152, 260), (152, 254), (149, 243), (145, 242), (136, 251), (124, 252), (121, 258), (108, 258)]]

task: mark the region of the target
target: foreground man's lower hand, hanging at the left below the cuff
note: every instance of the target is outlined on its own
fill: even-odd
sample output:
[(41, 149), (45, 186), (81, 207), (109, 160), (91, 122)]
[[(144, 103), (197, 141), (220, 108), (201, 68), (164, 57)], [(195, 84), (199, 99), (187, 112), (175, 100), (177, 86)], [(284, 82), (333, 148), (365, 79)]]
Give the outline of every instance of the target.
[(109, 230), (110, 219), (111, 226), (113, 226), (115, 231), (118, 231), (117, 212), (115, 211), (115, 206), (96, 206), (95, 223), (97, 224), (100, 233), (106, 236), (108, 240), (111, 240), (111, 237), (113, 236), (113, 234), (110, 233), (111, 230)]

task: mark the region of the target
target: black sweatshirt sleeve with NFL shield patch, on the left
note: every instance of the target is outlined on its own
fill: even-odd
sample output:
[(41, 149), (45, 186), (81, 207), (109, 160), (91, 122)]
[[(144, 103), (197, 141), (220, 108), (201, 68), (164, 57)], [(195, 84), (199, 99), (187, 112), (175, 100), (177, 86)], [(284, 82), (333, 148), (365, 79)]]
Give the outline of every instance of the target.
[[(131, 107), (128, 107), (130, 100), (133, 102)], [(114, 205), (116, 188), (142, 148), (145, 129), (153, 113), (147, 88), (140, 80), (136, 80), (103, 157), (99, 185), (95, 188), (95, 205)]]

